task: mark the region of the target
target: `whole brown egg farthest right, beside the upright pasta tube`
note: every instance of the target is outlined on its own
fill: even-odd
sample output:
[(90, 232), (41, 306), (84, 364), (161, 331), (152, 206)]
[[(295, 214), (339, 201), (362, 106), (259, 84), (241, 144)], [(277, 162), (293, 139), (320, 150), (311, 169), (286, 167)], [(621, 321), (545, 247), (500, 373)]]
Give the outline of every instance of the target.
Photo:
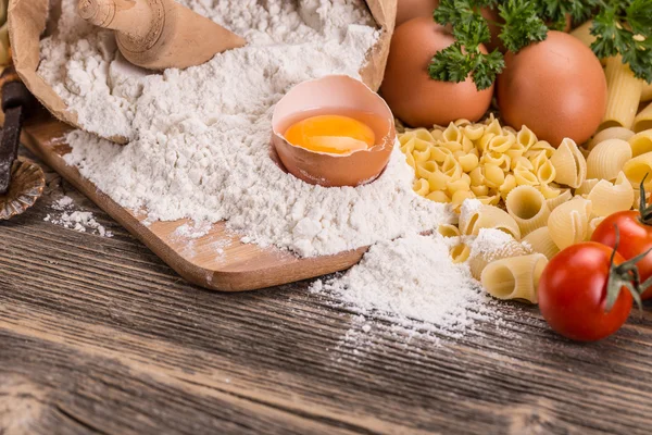
[(606, 79), (600, 61), (579, 39), (549, 32), (548, 39), (505, 55), (498, 78), (498, 105), (506, 124), (527, 125), (557, 147), (569, 137), (588, 140), (606, 109)]

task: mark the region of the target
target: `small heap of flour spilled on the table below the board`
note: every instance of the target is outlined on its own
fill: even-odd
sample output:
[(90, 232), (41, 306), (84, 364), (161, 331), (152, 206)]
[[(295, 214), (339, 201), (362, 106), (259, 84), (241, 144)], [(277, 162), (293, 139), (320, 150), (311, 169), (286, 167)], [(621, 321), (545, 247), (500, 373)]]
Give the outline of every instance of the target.
[[(453, 264), (439, 234), (374, 245), (341, 276), (316, 281), (311, 291), (334, 297), (363, 316), (413, 330), (461, 335), (487, 318), (490, 298), (465, 264)], [(368, 323), (362, 328), (371, 331)]]

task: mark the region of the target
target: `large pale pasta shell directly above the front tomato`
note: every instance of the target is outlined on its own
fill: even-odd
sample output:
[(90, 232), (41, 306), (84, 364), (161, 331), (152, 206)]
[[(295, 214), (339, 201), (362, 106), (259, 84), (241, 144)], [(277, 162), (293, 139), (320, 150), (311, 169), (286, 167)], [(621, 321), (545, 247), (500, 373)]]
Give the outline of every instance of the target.
[(550, 212), (548, 229), (560, 249), (580, 243), (587, 237), (591, 210), (591, 201), (575, 197)]

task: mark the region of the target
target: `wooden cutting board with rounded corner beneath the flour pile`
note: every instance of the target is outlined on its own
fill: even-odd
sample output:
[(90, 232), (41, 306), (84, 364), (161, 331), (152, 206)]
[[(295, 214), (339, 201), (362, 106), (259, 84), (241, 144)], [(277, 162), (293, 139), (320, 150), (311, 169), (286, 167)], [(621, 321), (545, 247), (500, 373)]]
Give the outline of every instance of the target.
[[(246, 245), (229, 233), (224, 222), (213, 224), (200, 238), (175, 235), (187, 220), (145, 225), (146, 215), (127, 210), (65, 163), (71, 148), (63, 139), (71, 130), (47, 113), (34, 116), (23, 132), (23, 144), (109, 213), (135, 237), (187, 281), (221, 291), (242, 291), (276, 286), (324, 275), (358, 263), (366, 248), (336, 256), (300, 259), (287, 251)], [(220, 251), (222, 250), (222, 251)]]

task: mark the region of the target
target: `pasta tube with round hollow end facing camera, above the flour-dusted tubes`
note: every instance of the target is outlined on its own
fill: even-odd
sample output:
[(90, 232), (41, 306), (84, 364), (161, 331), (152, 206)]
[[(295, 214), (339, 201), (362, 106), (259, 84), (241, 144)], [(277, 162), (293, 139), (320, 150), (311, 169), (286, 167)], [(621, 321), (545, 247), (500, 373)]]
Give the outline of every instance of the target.
[(518, 186), (507, 195), (505, 200), (507, 213), (521, 229), (521, 236), (534, 232), (548, 223), (550, 209), (543, 194), (531, 186)]

